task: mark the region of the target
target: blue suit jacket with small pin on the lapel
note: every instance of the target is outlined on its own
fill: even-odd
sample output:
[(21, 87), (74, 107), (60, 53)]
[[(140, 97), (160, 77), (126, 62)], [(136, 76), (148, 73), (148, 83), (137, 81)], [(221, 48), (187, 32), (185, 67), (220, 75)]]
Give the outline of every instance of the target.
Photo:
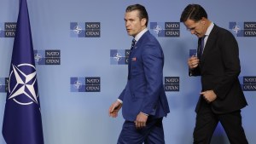
[(154, 118), (170, 112), (163, 86), (163, 66), (160, 43), (150, 32), (145, 32), (130, 54), (128, 81), (119, 95), (125, 120), (136, 120), (139, 112)]

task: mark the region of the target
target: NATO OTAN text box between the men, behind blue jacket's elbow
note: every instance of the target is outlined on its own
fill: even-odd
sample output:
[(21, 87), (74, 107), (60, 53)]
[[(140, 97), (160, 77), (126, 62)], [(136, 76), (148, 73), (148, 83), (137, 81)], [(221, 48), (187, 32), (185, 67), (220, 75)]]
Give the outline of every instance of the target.
[(165, 91), (179, 91), (179, 77), (165, 77)]

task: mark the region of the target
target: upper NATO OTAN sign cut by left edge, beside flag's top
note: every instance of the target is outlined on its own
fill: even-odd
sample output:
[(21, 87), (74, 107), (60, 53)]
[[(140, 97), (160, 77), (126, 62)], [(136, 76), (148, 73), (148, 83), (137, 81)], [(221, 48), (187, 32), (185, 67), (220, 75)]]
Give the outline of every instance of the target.
[(16, 22), (0, 23), (0, 37), (15, 37)]

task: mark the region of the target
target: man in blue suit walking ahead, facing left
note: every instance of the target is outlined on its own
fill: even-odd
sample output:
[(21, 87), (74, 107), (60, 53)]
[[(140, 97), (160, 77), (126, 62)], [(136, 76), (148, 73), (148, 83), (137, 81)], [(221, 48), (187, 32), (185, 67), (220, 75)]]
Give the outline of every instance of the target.
[(163, 86), (164, 54), (147, 25), (148, 13), (142, 5), (127, 7), (125, 27), (128, 35), (134, 37), (128, 81), (108, 111), (115, 118), (122, 107), (125, 123), (118, 144), (165, 143), (162, 118), (169, 112), (169, 106)]

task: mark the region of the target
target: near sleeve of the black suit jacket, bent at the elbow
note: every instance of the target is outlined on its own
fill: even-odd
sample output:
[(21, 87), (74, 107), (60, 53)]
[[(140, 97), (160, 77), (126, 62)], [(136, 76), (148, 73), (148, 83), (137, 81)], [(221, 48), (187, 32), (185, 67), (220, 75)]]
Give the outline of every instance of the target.
[(241, 72), (241, 67), (236, 38), (230, 32), (224, 32), (219, 39), (219, 48), (223, 60), (222, 65), (224, 66), (224, 76), (213, 91), (218, 98), (224, 99), (232, 88), (234, 82), (237, 80), (237, 77)]

